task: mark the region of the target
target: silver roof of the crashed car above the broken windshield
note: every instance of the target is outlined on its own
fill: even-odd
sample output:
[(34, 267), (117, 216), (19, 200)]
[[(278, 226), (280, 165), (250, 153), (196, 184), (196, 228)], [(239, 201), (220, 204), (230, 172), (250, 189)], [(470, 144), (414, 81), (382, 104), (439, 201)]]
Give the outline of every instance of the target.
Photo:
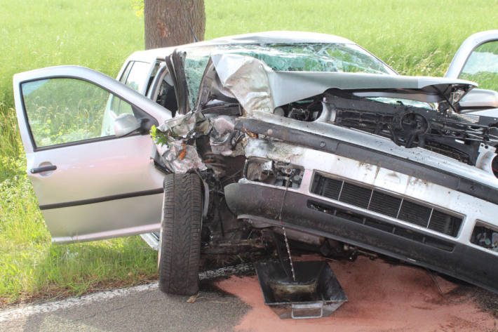
[(298, 31), (267, 31), (255, 32), (252, 34), (237, 34), (235, 36), (223, 36), (208, 41), (198, 41), (196, 43), (165, 48), (153, 48), (147, 51), (136, 51), (128, 58), (129, 60), (153, 62), (156, 59), (163, 59), (177, 48), (196, 48), (202, 46), (216, 46), (229, 44), (285, 44), (285, 43), (339, 43), (355, 44), (349, 39), (335, 36), (333, 34), (320, 34), (318, 32), (298, 32)]

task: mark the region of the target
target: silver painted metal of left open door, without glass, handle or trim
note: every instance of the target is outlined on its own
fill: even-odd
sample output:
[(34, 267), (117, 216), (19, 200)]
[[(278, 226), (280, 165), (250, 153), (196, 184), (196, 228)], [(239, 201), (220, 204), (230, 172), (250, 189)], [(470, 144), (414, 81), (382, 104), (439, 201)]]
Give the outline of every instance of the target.
[[(27, 173), (41, 206), (157, 190), (163, 173), (150, 159), (154, 146), (149, 135), (132, 135), (98, 142), (82, 142), (36, 151), (29, 138), (20, 84), (24, 81), (68, 77), (101, 86), (154, 117), (159, 123), (170, 112), (119, 81), (92, 69), (60, 66), (15, 74), (15, 107), (27, 159)], [(58, 168), (50, 173), (29, 173), (40, 165)], [(90, 241), (139, 234), (159, 229), (162, 194), (114, 199), (96, 204), (43, 210), (53, 241)]]

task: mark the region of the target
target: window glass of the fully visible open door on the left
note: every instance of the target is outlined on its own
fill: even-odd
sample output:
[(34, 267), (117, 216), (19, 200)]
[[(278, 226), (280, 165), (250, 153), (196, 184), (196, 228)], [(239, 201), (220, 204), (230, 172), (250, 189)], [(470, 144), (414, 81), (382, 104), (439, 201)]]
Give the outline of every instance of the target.
[(30, 81), (22, 84), (21, 89), (36, 147), (114, 135), (114, 128), (104, 130), (104, 117), (109, 111), (112, 113), (114, 100), (131, 110), (128, 102), (79, 79)]

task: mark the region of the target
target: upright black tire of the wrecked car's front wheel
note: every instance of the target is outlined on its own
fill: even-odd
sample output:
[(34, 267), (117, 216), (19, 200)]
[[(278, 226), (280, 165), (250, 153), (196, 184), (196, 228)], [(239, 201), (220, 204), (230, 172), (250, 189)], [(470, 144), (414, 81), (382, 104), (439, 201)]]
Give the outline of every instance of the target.
[(166, 175), (158, 258), (164, 293), (197, 293), (201, 223), (201, 179), (196, 174)]

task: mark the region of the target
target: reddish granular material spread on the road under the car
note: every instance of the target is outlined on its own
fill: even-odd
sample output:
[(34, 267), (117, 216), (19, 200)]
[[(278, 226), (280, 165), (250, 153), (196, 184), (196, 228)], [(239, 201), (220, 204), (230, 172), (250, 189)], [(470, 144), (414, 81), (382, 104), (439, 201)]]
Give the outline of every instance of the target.
[[(330, 266), (349, 303), (321, 319), (279, 319), (264, 305), (257, 277), (231, 277), (217, 286), (252, 307), (236, 331), (498, 331), (497, 319), (472, 300), (459, 304), (445, 300), (425, 270), (365, 257)], [(457, 287), (437, 279), (445, 293)]]

